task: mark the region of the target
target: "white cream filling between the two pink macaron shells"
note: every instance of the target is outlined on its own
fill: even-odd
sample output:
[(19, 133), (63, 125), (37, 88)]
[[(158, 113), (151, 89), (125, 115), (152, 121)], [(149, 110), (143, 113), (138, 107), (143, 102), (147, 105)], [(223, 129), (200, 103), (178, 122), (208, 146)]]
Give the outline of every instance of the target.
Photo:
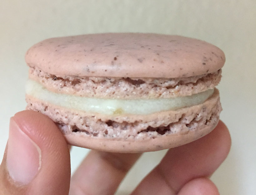
[(201, 104), (207, 100), (213, 94), (213, 92), (214, 89), (209, 89), (198, 94), (184, 97), (124, 100), (89, 98), (54, 93), (31, 79), (28, 80), (26, 84), (26, 93), (38, 100), (69, 109), (106, 115), (147, 115), (160, 111), (176, 110), (179, 108)]

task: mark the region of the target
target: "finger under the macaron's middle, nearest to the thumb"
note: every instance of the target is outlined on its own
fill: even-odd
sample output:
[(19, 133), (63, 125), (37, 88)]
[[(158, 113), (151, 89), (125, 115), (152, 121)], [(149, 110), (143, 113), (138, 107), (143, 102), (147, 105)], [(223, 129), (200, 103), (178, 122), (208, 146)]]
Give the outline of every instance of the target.
[(92, 150), (72, 176), (69, 194), (114, 194), (140, 155)]

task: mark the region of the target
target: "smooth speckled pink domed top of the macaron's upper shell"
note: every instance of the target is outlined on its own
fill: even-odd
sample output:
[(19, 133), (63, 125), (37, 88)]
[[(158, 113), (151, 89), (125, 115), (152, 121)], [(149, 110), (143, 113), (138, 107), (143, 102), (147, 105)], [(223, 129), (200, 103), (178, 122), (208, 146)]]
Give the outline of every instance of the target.
[(193, 38), (104, 33), (41, 41), (27, 51), (26, 62), (58, 76), (177, 78), (217, 71), (225, 56)]

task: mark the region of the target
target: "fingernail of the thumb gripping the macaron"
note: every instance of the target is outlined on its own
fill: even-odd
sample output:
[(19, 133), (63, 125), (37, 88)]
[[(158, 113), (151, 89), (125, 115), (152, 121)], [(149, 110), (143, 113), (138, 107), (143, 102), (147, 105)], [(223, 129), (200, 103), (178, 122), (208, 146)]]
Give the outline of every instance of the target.
[(11, 178), (20, 184), (28, 184), (41, 167), (41, 150), (11, 118), (6, 166)]

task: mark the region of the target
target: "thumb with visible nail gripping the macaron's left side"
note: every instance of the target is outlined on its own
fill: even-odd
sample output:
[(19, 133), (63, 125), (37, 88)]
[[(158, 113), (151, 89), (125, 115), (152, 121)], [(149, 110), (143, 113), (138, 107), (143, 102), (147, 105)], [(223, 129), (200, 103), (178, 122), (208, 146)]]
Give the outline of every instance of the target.
[(70, 154), (64, 137), (47, 116), (18, 112), (0, 165), (0, 194), (67, 195)]

